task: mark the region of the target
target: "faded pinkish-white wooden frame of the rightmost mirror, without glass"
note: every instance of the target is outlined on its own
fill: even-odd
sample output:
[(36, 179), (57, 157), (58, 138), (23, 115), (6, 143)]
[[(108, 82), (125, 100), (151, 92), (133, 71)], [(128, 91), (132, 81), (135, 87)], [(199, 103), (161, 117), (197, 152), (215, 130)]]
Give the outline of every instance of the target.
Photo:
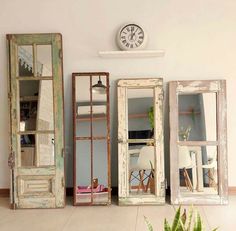
[[(178, 95), (216, 93), (216, 141), (178, 141), (179, 110)], [(169, 123), (170, 123), (170, 177), (172, 204), (227, 204), (228, 167), (227, 167), (227, 125), (226, 125), (226, 81), (198, 80), (169, 82)], [(181, 194), (179, 181), (178, 146), (216, 146), (218, 161), (218, 195)]]

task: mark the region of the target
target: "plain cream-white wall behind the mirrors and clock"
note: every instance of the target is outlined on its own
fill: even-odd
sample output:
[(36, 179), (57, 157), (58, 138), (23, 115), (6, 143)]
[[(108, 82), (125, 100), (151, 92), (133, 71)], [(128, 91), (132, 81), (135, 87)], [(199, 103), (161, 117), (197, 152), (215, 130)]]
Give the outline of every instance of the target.
[[(109, 71), (113, 185), (117, 180), (116, 80), (161, 76), (165, 82), (227, 79), (229, 185), (236, 186), (235, 0), (1, 0), (0, 5), (0, 188), (9, 186), (5, 34), (34, 32), (60, 32), (63, 35), (68, 185), (72, 182), (69, 168), (72, 161), (71, 73)], [(99, 58), (99, 50), (117, 48), (115, 33), (118, 27), (132, 21), (142, 24), (148, 31), (147, 48), (165, 49), (165, 57)], [(168, 146), (168, 138), (166, 141)]]

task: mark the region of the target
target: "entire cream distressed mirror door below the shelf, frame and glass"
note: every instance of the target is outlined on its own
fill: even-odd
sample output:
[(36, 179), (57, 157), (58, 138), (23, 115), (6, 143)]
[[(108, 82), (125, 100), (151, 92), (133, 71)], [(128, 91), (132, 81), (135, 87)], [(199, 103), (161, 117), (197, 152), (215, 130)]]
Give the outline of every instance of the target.
[(119, 204), (165, 203), (163, 81), (118, 81)]

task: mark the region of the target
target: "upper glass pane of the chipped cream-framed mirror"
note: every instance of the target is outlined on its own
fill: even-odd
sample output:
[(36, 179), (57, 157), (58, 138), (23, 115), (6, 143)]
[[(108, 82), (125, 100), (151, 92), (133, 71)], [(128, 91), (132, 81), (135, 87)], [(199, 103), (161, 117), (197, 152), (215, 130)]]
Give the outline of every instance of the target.
[(153, 89), (128, 89), (129, 139), (152, 138), (153, 123)]

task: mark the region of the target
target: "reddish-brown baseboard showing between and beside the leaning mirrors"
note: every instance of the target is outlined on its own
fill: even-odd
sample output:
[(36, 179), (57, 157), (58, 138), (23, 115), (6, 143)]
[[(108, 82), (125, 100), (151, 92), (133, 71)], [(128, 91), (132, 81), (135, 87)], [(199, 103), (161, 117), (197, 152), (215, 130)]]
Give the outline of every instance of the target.
[[(118, 187), (112, 187), (111, 191), (112, 195), (118, 195)], [(166, 192), (167, 195), (170, 194), (170, 190), (167, 189)], [(8, 188), (0, 188), (0, 197), (9, 197), (10, 195), (10, 190)], [(66, 195), (67, 196), (73, 196), (73, 188), (68, 187), (66, 188)], [(236, 195), (236, 186), (230, 186), (229, 187), (229, 195)]]

